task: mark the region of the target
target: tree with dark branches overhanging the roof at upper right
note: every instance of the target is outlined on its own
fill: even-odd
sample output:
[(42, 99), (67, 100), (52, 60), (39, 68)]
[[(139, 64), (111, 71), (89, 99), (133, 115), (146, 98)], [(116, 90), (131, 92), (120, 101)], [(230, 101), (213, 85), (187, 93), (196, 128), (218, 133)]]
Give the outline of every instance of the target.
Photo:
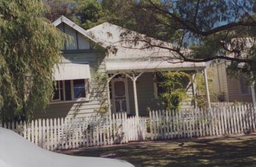
[[(145, 36), (143, 48), (166, 48), (180, 62), (230, 61), (233, 73), (256, 77), (256, 1), (239, 0), (129, 0), (118, 9), (117, 23)], [(136, 25), (136, 26), (134, 26)], [(172, 62), (170, 60), (170, 62)], [(237, 66), (240, 64), (239, 66)]]

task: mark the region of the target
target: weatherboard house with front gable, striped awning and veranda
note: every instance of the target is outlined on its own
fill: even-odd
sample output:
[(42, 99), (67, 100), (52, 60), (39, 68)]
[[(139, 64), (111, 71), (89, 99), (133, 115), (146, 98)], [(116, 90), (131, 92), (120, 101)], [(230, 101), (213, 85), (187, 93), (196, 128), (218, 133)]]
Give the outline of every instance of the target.
[[(53, 74), (57, 84), (54, 98), (45, 113), (35, 114), (37, 118), (83, 117), (98, 112), (102, 105), (108, 106), (109, 113), (148, 116), (149, 109), (163, 109), (162, 101), (157, 96), (156, 71), (205, 71), (204, 62), (178, 62), (173, 56), (175, 53), (170, 50), (141, 49), (145, 46), (143, 41), (136, 45), (122, 41), (126, 29), (108, 22), (84, 30), (61, 16), (53, 24), (72, 36), (72, 40), (65, 43), (63, 59)], [(131, 38), (132, 34), (143, 36), (132, 32)], [(115, 52), (100, 54), (97, 46), (108, 50), (112, 48)], [(164, 61), (163, 57), (175, 63)], [(100, 74), (107, 76), (106, 83), (102, 82), (106, 87), (101, 87), (99, 78), (95, 78)], [(187, 85), (189, 98), (182, 102), (183, 109), (194, 107), (195, 84), (189, 82)], [(206, 90), (209, 102), (207, 87)]]

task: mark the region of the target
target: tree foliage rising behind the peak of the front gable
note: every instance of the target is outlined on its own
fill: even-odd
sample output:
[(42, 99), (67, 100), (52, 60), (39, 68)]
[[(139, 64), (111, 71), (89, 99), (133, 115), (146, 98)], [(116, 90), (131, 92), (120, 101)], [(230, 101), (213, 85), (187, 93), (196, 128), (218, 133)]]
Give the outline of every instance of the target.
[(90, 29), (106, 21), (108, 13), (102, 10), (102, 2), (97, 0), (43, 0), (45, 17), (54, 22), (64, 15), (84, 29)]

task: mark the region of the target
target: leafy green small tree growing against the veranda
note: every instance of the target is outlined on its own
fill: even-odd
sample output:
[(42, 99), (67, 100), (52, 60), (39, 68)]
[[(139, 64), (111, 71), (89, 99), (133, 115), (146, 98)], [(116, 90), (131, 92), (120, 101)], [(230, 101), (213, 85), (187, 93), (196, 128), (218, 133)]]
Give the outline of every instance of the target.
[(177, 110), (181, 101), (186, 99), (186, 86), (191, 75), (184, 72), (157, 72), (160, 98), (166, 109)]

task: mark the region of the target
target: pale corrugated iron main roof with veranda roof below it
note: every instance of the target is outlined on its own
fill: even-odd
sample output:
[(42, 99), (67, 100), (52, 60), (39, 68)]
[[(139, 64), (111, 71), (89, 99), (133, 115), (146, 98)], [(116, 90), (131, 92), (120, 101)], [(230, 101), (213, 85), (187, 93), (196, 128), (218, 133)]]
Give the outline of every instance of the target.
[[(106, 70), (109, 71), (124, 71), (124, 70), (156, 70), (156, 69), (198, 69), (205, 68), (205, 62), (180, 62), (179, 55), (168, 49), (171, 43), (148, 38), (143, 34), (129, 31), (119, 27), (118, 25), (109, 24), (105, 22), (97, 25), (92, 29), (88, 29), (89, 34), (95, 41), (99, 41), (100, 45), (104, 47), (112, 47), (116, 52), (109, 52), (106, 58)], [(125, 38), (122, 38), (125, 36)], [(134, 37), (140, 36), (140, 39), (145, 41), (138, 41), (134, 43)], [(154, 45), (161, 45), (166, 48), (148, 47), (147, 41), (150, 40)], [(188, 50), (184, 51), (188, 52)], [(144, 70), (143, 70), (144, 69)]]

